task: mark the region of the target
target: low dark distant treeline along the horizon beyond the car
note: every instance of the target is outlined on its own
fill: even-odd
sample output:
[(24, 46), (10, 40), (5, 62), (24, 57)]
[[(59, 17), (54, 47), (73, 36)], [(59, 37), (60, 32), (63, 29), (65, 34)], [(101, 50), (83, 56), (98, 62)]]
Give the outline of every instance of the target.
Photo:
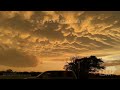
[[(16, 72), (12, 71), (11, 69), (8, 69), (6, 71), (0, 71), (0, 76), (37, 76), (41, 74), (42, 72)], [(81, 79), (83, 75), (80, 75)], [(114, 74), (94, 74), (89, 73), (87, 79), (120, 79), (120, 75), (114, 75)]]

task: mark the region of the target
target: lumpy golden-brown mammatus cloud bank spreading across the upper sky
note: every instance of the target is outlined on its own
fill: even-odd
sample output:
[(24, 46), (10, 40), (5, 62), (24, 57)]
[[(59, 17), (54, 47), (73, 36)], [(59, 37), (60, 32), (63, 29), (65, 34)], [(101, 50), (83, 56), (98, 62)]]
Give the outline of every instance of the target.
[[(38, 45), (37, 50), (39, 52), (37, 53), (41, 53), (41, 47), (43, 47), (43, 50), (48, 49), (43, 54), (47, 55), (48, 52), (54, 55), (54, 52), (59, 54), (61, 52), (79, 53), (81, 49), (109, 49), (120, 43), (119, 29), (115, 29), (120, 25), (120, 12), (35, 11), (32, 13), (31, 15), (28, 14), (29, 18), (26, 17), (26, 12), (0, 13), (0, 27), (10, 27), (12, 28), (10, 30), (14, 32), (15, 30), (21, 31), (20, 34), (23, 34), (23, 32), (30, 34), (27, 38), (21, 38), (19, 34), (10, 38), (14, 42), (14, 47), (21, 47), (21, 50), (28, 50), (30, 47)], [(71, 20), (72, 22), (60, 23), (55, 22), (56, 20)], [(76, 20), (80, 20), (81, 22), (75, 23)], [(34, 37), (35, 39), (33, 39)], [(46, 40), (42, 40), (43, 38), (46, 38)], [(65, 40), (68, 43), (63, 43)], [(63, 44), (52, 44), (55, 41), (61, 41)], [(16, 42), (19, 44), (15, 44)], [(47, 45), (50, 45), (50, 47)]]

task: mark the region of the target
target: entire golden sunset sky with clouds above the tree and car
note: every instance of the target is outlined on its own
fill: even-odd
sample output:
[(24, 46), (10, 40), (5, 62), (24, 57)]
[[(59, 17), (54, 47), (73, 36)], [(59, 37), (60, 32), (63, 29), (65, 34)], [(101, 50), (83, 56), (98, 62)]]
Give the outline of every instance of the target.
[(95, 55), (120, 74), (120, 11), (0, 11), (0, 70), (63, 70)]

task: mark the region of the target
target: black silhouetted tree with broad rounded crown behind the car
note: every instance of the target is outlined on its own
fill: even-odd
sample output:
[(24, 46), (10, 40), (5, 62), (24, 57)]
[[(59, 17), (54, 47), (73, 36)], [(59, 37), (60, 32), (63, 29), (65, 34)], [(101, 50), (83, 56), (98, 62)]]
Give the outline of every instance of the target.
[(96, 56), (84, 58), (73, 57), (71, 62), (67, 63), (64, 68), (65, 70), (74, 71), (78, 78), (87, 78), (90, 72), (104, 69), (105, 67), (102, 66), (102, 63), (104, 62)]

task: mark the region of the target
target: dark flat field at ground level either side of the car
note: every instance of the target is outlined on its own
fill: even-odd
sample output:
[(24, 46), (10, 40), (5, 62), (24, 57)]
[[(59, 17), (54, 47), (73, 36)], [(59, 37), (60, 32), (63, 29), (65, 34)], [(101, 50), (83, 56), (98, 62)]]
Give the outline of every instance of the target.
[[(0, 79), (25, 79), (28, 77), (34, 77), (41, 72), (12, 72), (12, 73), (0, 73)], [(105, 74), (90, 74), (87, 79), (120, 79), (119, 75), (105, 75)]]

